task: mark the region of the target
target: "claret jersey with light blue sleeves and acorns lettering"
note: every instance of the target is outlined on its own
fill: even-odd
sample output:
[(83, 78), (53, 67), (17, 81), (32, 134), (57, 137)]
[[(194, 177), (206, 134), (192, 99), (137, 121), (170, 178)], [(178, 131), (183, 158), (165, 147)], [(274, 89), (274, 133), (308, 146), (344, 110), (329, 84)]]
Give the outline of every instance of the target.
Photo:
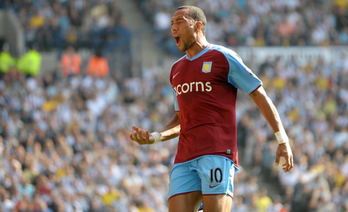
[(209, 44), (194, 57), (176, 61), (170, 82), (181, 127), (174, 163), (220, 155), (238, 168), (237, 89), (250, 94), (261, 80), (234, 51)]

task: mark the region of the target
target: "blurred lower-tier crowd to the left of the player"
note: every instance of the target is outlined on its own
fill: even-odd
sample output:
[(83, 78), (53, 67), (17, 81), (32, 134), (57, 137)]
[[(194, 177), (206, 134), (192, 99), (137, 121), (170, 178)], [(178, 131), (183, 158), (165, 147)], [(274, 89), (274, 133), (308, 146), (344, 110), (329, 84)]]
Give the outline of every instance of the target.
[[(168, 211), (177, 139), (139, 146), (128, 138), (130, 125), (153, 130), (174, 112), (167, 79), (158, 69), (144, 73), (126, 80), (119, 73), (64, 77), (61, 70), (29, 78), (5, 74), (0, 80), (3, 211)], [(235, 183), (248, 195), (259, 191), (255, 180), (241, 170)], [(257, 207), (255, 201), (250, 207)]]

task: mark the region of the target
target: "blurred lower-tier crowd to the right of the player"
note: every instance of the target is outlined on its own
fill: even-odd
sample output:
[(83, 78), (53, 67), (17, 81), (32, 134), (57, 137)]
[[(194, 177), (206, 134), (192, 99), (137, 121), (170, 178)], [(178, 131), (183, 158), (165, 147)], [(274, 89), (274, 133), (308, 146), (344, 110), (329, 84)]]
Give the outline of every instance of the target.
[(254, 167), (254, 174), (278, 179), (283, 202), (293, 211), (346, 211), (348, 55), (335, 62), (318, 57), (304, 63), (296, 56), (278, 57), (264, 61), (258, 70), (292, 139), (295, 166), (285, 174), (273, 165), (278, 145), (253, 105), (239, 123), (239, 142), (245, 146), (241, 160)]

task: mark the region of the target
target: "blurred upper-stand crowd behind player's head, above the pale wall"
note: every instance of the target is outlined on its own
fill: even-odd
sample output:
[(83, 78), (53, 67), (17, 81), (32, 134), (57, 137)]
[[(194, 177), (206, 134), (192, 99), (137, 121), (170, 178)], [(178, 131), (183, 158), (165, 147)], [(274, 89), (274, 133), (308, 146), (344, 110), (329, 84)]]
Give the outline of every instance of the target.
[[(159, 42), (175, 52), (170, 23), (185, 0), (137, 0), (151, 17)], [(286, 0), (192, 0), (207, 17), (206, 36), (227, 46), (327, 46), (348, 44), (348, 3)]]

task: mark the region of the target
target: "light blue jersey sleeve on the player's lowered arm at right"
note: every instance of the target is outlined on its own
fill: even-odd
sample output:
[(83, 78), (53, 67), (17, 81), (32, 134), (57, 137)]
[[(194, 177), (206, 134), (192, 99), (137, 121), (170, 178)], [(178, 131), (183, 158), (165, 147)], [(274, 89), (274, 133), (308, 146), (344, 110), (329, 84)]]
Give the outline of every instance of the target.
[(232, 50), (225, 54), (230, 65), (228, 82), (247, 94), (262, 85), (261, 80), (243, 63), (238, 54)]

